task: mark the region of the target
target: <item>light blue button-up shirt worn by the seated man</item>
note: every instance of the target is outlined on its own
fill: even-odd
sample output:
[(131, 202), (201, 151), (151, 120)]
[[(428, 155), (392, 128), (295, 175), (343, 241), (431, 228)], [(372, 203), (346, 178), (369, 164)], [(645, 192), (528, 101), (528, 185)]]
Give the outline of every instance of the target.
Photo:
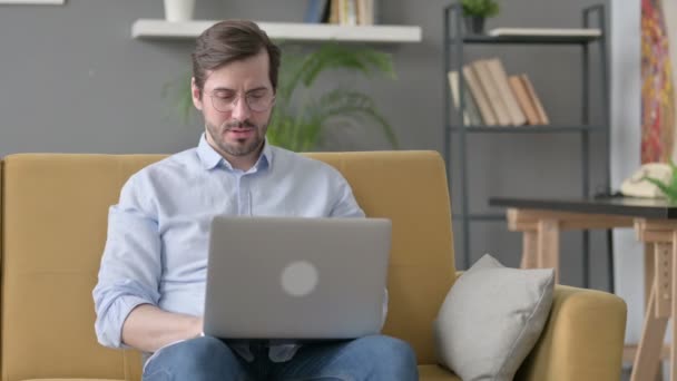
[[(333, 167), (265, 144), (247, 172), (207, 144), (133, 175), (109, 209), (108, 238), (94, 290), (99, 342), (122, 348), (129, 312), (148, 303), (202, 316), (209, 226), (216, 215), (361, 217), (345, 178)], [(296, 345), (273, 345), (272, 360)], [(236, 349), (237, 350), (237, 349)], [(248, 351), (241, 351), (247, 356)]]

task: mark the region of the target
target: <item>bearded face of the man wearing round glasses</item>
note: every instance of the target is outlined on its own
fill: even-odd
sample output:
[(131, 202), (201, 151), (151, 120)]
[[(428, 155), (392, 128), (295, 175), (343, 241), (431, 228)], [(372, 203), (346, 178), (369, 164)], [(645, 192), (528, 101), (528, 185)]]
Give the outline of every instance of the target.
[(225, 158), (258, 157), (273, 109), (268, 65), (268, 53), (262, 50), (207, 71), (202, 94), (193, 81), (193, 104), (205, 118), (207, 143)]

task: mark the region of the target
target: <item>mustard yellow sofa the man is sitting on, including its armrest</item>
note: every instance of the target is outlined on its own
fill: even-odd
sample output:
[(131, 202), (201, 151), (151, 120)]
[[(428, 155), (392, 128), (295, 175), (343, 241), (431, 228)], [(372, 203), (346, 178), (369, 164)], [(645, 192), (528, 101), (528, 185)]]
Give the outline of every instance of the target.
[[(432, 322), (455, 268), (444, 164), (432, 152), (308, 154), (341, 170), (370, 216), (393, 221), (385, 333), (410, 342), (421, 380), (459, 380), (435, 363)], [(3, 159), (3, 381), (139, 380), (135, 351), (100, 346), (95, 285), (108, 206), (159, 155), (23, 154)], [(186, 195), (190, 197), (190, 195)], [(517, 380), (617, 381), (626, 305), (558, 286), (552, 312)]]

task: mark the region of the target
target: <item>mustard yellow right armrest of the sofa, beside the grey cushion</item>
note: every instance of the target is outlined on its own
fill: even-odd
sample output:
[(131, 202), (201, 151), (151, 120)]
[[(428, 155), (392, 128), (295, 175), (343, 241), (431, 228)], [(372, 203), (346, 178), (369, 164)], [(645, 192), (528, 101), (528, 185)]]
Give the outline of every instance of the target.
[(557, 285), (543, 332), (516, 380), (620, 380), (626, 314), (616, 295)]

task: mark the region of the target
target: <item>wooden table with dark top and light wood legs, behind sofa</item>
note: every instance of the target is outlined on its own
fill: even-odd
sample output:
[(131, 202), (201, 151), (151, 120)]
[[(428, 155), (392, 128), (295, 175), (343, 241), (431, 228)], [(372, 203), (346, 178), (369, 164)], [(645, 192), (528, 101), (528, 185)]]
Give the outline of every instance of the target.
[[(677, 205), (641, 198), (503, 198), (490, 206), (508, 208), (508, 228), (522, 232), (524, 268), (559, 268), (559, 236), (567, 229), (635, 227), (645, 243), (645, 320), (634, 351), (631, 381), (655, 380), (670, 318), (677, 316)], [(670, 380), (677, 381), (677, 329), (673, 329)]]

